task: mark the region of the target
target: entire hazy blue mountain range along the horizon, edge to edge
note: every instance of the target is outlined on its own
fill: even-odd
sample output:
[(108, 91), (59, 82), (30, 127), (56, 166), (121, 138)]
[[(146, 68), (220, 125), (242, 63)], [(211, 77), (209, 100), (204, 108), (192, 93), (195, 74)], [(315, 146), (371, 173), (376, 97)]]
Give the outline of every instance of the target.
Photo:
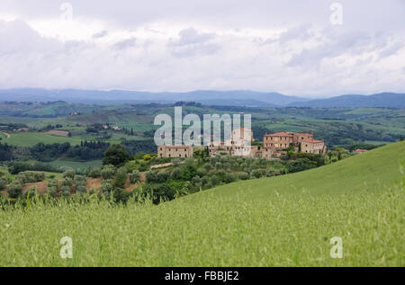
[(205, 105), (247, 106), (247, 107), (312, 107), (312, 108), (404, 108), (405, 94), (382, 93), (371, 95), (340, 95), (326, 99), (309, 99), (287, 96), (279, 93), (261, 93), (249, 90), (214, 91), (197, 90), (185, 93), (150, 93), (125, 90), (79, 90), (79, 89), (3, 89), (0, 101), (16, 102), (83, 102), (83, 103), (126, 103), (126, 102), (201, 102)]

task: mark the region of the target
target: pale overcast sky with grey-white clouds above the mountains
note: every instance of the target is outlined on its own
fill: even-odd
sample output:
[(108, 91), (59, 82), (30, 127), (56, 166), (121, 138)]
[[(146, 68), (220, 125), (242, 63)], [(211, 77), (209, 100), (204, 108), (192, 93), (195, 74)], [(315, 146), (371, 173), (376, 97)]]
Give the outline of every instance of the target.
[(405, 93), (405, 1), (0, 0), (15, 87)]

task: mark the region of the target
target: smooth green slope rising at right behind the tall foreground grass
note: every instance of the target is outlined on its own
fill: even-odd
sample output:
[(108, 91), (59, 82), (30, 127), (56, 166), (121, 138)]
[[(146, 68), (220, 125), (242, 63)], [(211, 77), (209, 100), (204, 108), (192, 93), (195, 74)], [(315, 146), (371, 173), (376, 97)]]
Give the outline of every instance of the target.
[[(243, 192), (250, 199), (262, 199), (276, 192), (337, 195), (349, 191), (378, 191), (398, 178), (401, 159), (405, 159), (405, 141), (301, 173), (226, 184), (206, 192), (214, 191), (217, 196)], [(201, 193), (201, 197), (197, 194), (185, 199), (199, 200), (206, 192)]]

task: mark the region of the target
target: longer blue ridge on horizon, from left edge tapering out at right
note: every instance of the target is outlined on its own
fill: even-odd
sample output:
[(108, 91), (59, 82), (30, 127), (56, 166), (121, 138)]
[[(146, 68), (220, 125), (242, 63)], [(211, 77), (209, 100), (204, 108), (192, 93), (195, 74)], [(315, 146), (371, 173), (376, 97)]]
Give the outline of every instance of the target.
[(227, 106), (284, 106), (291, 102), (302, 102), (307, 99), (286, 96), (278, 93), (261, 93), (250, 90), (196, 90), (191, 92), (142, 92), (127, 90), (79, 90), (79, 89), (4, 89), (0, 90), (0, 101), (17, 102), (66, 102), (82, 103), (148, 103), (148, 102), (203, 102), (211, 105)]

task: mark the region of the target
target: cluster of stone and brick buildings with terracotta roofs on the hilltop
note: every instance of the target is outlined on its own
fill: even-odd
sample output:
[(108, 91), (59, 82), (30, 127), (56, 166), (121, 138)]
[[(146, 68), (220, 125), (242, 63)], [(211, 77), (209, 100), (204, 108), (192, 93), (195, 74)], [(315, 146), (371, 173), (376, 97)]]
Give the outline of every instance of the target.
[[(254, 141), (253, 130), (244, 128), (233, 130), (231, 138), (225, 142), (211, 142), (211, 145), (208, 146), (209, 154), (210, 156), (247, 156), (273, 159), (286, 154), (287, 150), (317, 155), (327, 153), (324, 140), (315, 139), (313, 133), (278, 131), (273, 134), (266, 134), (261, 144), (252, 145), (252, 141)], [(202, 147), (159, 146), (157, 147), (157, 157), (191, 157), (196, 148)]]

